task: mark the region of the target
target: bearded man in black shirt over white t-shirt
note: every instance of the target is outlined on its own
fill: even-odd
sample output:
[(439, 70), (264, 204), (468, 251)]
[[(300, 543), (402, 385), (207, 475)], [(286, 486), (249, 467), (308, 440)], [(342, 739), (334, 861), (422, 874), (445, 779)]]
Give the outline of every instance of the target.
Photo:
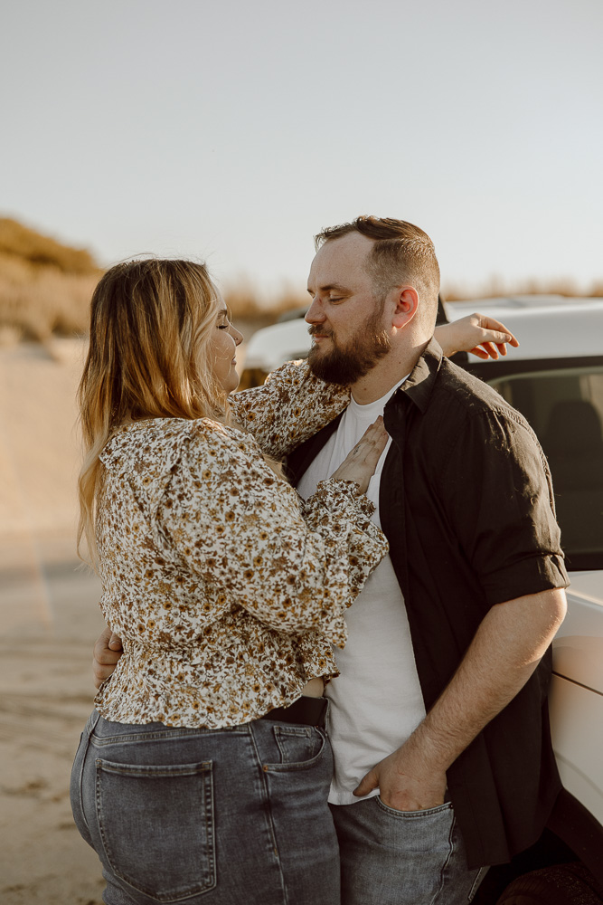
[(342, 898), (456, 905), (535, 842), (560, 789), (546, 688), (568, 581), (550, 474), (523, 417), (432, 340), (426, 233), (359, 217), (316, 244), (309, 363), (352, 400), (290, 457), (300, 493), (378, 414), (391, 436), (368, 491), (390, 556), (326, 691)]

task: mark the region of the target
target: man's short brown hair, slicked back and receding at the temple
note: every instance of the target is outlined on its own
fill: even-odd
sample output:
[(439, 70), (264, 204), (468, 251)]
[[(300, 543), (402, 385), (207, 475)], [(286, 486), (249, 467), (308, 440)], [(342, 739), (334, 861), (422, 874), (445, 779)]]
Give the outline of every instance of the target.
[[(361, 233), (372, 239), (366, 271), (375, 294), (384, 299), (394, 287), (410, 283), (419, 292), (425, 315), (435, 319), (439, 292), (439, 265), (429, 235), (419, 226), (392, 217), (356, 217), (352, 223), (328, 226), (314, 237), (316, 251), (325, 243), (350, 233)], [(429, 311), (429, 315), (428, 315)]]

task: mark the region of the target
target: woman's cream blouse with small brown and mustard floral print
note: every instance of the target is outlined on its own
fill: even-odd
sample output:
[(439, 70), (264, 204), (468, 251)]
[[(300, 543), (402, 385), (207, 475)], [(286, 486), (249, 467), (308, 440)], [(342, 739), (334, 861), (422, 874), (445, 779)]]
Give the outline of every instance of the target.
[(288, 364), (231, 402), (247, 431), (149, 419), (100, 454), (100, 605), (124, 646), (95, 701), (106, 719), (218, 729), (286, 707), (337, 675), (345, 607), (387, 552), (356, 484), (304, 502), (260, 449), (286, 454), (346, 394)]

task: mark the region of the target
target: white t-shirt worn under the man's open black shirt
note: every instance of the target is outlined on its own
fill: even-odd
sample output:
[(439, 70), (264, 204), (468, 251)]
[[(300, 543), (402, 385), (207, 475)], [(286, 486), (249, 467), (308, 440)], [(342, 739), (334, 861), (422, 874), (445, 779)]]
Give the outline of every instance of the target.
[[(310, 496), (318, 481), (333, 474), (403, 382), (369, 405), (358, 405), (352, 399), (337, 431), (299, 482), (302, 497)], [(372, 520), (380, 526), (379, 486), (390, 443), (366, 494), (377, 507)], [(325, 691), (331, 700), (328, 729), (334, 780), (329, 801), (334, 805), (360, 801), (353, 789), (383, 757), (400, 748), (425, 716), (404, 598), (389, 556), (374, 570), (345, 621), (348, 641), (343, 651), (335, 649), (341, 675), (329, 682)], [(371, 795), (378, 791), (374, 789)]]

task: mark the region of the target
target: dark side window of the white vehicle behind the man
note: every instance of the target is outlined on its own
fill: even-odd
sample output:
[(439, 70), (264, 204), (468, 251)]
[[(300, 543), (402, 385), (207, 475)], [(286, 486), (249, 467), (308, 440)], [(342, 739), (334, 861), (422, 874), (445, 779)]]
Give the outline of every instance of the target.
[(542, 443), (570, 568), (603, 567), (603, 367), (531, 370), (488, 383)]

